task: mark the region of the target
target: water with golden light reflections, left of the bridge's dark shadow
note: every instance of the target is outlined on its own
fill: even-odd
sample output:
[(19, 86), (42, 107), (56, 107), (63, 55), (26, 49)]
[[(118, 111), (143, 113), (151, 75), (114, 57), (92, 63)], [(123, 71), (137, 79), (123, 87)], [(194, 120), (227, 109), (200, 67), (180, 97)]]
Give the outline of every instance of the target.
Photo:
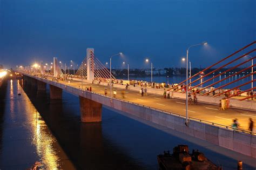
[[(4, 116), (0, 124), (1, 140), (5, 145), (0, 146), (0, 168), (26, 169), (39, 161), (42, 169), (62, 169), (62, 158), (66, 161), (68, 157), (19, 83), (22, 82), (8, 82), (9, 92), (4, 99), (5, 106), (10, 108), (1, 115)], [(11, 154), (10, 148), (15, 152)], [(71, 162), (66, 164), (75, 169)]]

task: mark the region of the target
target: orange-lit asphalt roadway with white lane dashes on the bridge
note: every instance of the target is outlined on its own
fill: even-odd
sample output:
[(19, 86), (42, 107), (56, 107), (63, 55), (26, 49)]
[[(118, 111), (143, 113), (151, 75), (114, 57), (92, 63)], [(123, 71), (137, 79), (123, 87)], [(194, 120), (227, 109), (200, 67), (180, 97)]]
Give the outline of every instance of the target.
[[(51, 79), (49, 77), (49, 79)], [(59, 83), (67, 84), (69, 86), (81, 87), (81, 81), (70, 80), (70, 84), (68, 84), (68, 80), (59, 81)], [(104, 88), (107, 89), (107, 96), (110, 96), (110, 87), (97, 85), (92, 83), (83, 82), (83, 88), (92, 87), (92, 92), (96, 92), (99, 94), (104, 94)], [(131, 101), (133, 103), (142, 104), (145, 106), (150, 106), (154, 108), (158, 108), (160, 110), (165, 110), (168, 112), (178, 113), (185, 115), (185, 100), (183, 99), (165, 99), (163, 96), (159, 96), (157, 94), (147, 94), (147, 96), (141, 96), (138, 91), (125, 90), (125, 97), (122, 96), (122, 90), (116, 87), (112, 87), (112, 90), (117, 91), (116, 98), (123, 99), (127, 101)], [(112, 94), (113, 97), (113, 94)], [(234, 118), (238, 118), (238, 122), (240, 124), (240, 128), (248, 130), (249, 118), (251, 117), (254, 122), (256, 121), (256, 112), (251, 110), (242, 110), (238, 108), (228, 108), (225, 111), (220, 111), (219, 106), (198, 103), (198, 105), (189, 105), (188, 106), (188, 115), (190, 117), (211, 121), (213, 123), (223, 124), (227, 126), (232, 125), (232, 120)], [(256, 132), (256, 127), (254, 124), (254, 132)]]

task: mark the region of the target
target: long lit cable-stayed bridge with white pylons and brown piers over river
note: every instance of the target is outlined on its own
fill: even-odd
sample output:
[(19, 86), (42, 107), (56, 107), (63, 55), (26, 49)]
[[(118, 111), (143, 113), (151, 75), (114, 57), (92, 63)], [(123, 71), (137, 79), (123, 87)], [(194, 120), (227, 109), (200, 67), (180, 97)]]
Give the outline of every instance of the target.
[[(186, 95), (179, 89), (180, 86), (177, 86), (176, 90), (170, 88), (174, 98), (166, 99), (162, 95), (163, 89), (148, 88), (147, 96), (142, 97), (139, 94), (140, 87), (138, 86), (130, 86), (130, 90), (126, 90), (125, 85), (114, 84), (112, 89), (117, 91), (117, 96), (110, 99), (110, 86), (108, 86), (110, 79), (107, 78), (109, 70), (102, 68), (99, 71), (98, 69), (100, 73), (96, 77), (105, 78), (106, 80), (106, 82), (99, 84), (97, 78), (93, 77), (95, 73), (95, 62), (92, 59), (93, 52), (92, 49), (87, 50), (87, 62), (85, 63), (84, 60), (78, 69), (82, 72), (80, 77), (67, 79), (64, 76), (60, 78), (62, 75), (60, 75), (61, 72), (55, 58), (53, 74), (30, 72), (30, 69), (19, 70), (24, 77), (21, 83), (22, 85), (37, 86), (38, 91), (46, 90), (46, 85), (48, 84), (50, 86), (51, 99), (62, 99), (63, 90), (78, 96), (80, 118), (84, 123), (101, 121), (102, 105), (105, 105), (153, 124), (192, 135), (215, 145), (256, 158), (256, 133), (247, 131), (248, 118), (256, 117), (256, 103), (254, 101), (241, 100), (247, 99), (247, 97), (231, 99), (230, 105), (232, 108), (219, 111), (218, 104), (222, 97), (198, 96), (199, 104), (191, 105), (188, 108), (190, 124), (186, 126), (184, 124), (184, 99)], [(96, 64), (99, 65), (98, 63)], [(254, 73), (252, 72), (250, 76)], [(57, 79), (57, 77), (59, 78)], [(114, 79), (114, 77), (112, 78)], [(105, 94), (105, 88), (107, 94)], [(120, 95), (123, 92), (124, 95)], [(231, 127), (233, 118), (238, 118), (243, 128)]]

